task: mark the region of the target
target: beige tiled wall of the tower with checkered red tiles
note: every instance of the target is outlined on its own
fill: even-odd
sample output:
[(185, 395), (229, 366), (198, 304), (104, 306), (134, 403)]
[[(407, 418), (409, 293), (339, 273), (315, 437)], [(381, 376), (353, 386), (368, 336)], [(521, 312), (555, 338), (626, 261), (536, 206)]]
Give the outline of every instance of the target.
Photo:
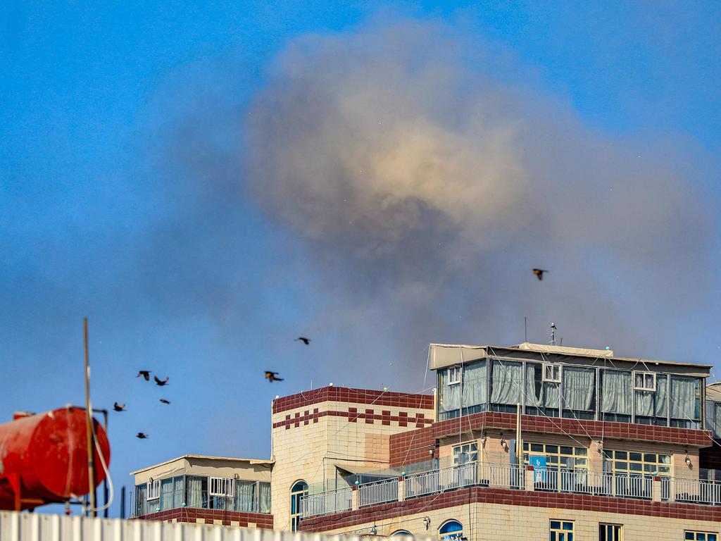
[[(357, 411), (353, 413), (351, 408)], [(306, 412), (312, 415), (315, 409), (317, 413), (348, 413), (350, 418), (345, 415), (322, 415), (316, 422), (313, 419), (308, 423), (300, 421), (298, 426), (292, 422), (296, 413), (304, 418)], [(394, 417), (405, 413), (410, 418), (420, 412), (425, 418), (433, 418), (432, 409), (335, 401), (304, 405), (273, 414), (273, 425), (286, 422), (288, 415), (292, 422), (287, 429), (285, 426), (273, 428), (272, 457), (275, 465), (271, 495), (275, 529), (291, 529), (290, 494), (298, 480), (308, 483), (311, 493), (314, 493), (322, 491), (322, 487), (332, 490), (348, 486), (338, 475), (337, 467), (350, 472), (387, 469), (391, 434), (417, 428), (416, 423), (399, 426), (398, 422), (383, 424), (379, 419), (367, 423), (365, 418), (358, 415), (365, 413), (366, 409), (372, 409), (376, 414), (389, 411)], [(358, 418), (355, 422), (351, 422), (356, 416)]]

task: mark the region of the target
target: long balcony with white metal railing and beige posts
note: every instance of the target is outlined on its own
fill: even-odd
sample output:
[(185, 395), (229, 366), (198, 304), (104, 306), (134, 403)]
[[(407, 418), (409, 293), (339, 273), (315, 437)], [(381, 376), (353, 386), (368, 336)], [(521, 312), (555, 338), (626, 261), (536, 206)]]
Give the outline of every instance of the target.
[(306, 496), (301, 499), (301, 518), (355, 511), (469, 487), (721, 506), (719, 481), (555, 467), (521, 470), (516, 466), (470, 462)]

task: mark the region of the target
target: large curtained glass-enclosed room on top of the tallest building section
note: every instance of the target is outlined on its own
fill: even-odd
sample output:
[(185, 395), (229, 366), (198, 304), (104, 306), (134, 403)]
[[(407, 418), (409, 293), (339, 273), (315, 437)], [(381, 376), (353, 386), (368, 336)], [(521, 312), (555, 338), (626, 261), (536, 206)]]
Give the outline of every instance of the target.
[(679, 428), (704, 426), (711, 366), (616, 357), (593, 350), (431, 344), (438, 374), (438, 421), (482, 411), (616, 421)]

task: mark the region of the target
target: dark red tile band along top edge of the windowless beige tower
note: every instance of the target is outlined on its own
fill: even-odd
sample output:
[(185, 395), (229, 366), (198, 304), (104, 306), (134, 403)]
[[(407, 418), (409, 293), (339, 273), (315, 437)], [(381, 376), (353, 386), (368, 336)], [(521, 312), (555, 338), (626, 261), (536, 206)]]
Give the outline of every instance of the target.
[(350, 389), (348, 387), (333, 386), (321, 387), (320, 389), (314, 389), (312, 391), (299, 392), (297, 395), (277, 398), (273, 401), (273, 413), (304, 408), (312, 404), (329, 401), (433, 410), (433, 395)]

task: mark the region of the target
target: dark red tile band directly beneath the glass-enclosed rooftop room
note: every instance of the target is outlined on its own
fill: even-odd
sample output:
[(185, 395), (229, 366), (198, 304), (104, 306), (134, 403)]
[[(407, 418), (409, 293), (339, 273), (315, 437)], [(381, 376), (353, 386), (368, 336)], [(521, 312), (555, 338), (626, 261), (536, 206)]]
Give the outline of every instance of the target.
[[(461, 427), (462, 423), (462, 427)], [(391, 435), (390, 458), (392, 466), (428, 459), (428, 449), (439, 438), (454, 436), (463, 431), (485, 429), (516, 430), (516, 415), (485, 411), (448, 419), (419, 430)], [(673, 428), (671, 426), (647, 426), (633, 423), (609, 423), (605, 421), (578, 421), (576, 419), (547, 418), (536, 415), (521, 415), (524, 432), (540, 434), (570, 434), (572, 436), (653, 441), (707, 447), (712, 444), (711, 433), (706, 430)]]

